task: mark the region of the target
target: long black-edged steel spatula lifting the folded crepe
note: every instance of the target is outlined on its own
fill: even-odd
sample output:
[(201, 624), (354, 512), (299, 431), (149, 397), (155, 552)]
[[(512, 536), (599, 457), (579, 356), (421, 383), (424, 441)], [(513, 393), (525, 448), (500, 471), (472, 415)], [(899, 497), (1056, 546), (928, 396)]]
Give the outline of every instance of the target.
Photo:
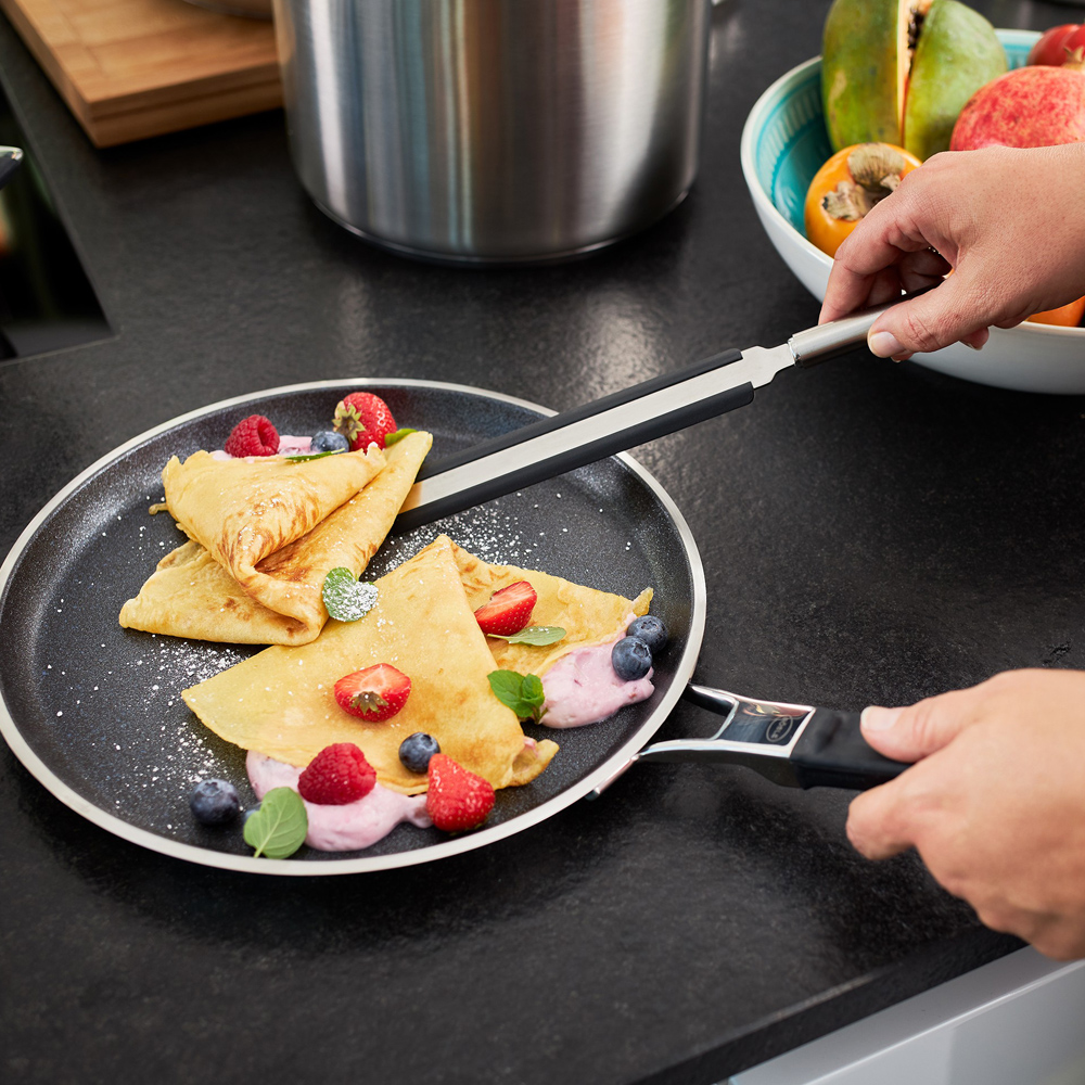
[(808, 328), (771, 349), (725, 350), (423, 468), (394, 529), (411, 531), (744, 407), (781, 369), (805, 369), (861, 343), (886, 308)]

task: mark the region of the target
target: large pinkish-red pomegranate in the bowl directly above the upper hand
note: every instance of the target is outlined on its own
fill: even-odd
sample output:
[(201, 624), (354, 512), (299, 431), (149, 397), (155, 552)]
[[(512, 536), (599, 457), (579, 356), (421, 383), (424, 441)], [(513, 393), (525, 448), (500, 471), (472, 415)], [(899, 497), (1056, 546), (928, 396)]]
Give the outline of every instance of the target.
[(981, 87), (954, 125), (950, 151), (1054, 146), (1085, 140), (1085, 75), (1073, 67), (1023, 67)]

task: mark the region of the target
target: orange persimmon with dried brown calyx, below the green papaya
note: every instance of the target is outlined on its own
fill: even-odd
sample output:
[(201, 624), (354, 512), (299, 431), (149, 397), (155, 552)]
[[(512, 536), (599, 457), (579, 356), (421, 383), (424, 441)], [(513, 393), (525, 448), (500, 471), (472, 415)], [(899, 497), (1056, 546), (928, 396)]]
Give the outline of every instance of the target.
[(809, 242), (835, 255), (867, 212), (920, 165), (914, 154), (892, 143), (855, 143), (838, 151), (806, 190), (803, 219)]

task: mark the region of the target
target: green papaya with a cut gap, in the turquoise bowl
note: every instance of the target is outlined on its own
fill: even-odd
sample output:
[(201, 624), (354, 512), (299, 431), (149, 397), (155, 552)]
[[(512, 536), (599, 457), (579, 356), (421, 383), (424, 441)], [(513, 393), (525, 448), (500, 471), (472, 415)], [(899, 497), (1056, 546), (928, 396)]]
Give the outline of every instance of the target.
[(921, 159), (948, 149), (963, 104), (1006, 71), (994, 28), (958, 0), (834, 0), (821, 52), (834, 150), (893, 143)]

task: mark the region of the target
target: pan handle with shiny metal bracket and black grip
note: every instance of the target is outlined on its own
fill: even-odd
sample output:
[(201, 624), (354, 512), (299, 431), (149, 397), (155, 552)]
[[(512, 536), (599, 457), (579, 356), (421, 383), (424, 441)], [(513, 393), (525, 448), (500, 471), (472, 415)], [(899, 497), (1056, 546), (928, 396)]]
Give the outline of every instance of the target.
[(859, 713), (786, 704), (690, 684), (687, 700), (723, 715), (706, 739), (675, 739), (646, 746), (596, 788), (599, 795), (637, 762), (719, 762), (744, 765), (792, 788), (866, 791), (896, 779), (907, 763), (878, 753), (859, 730)]

